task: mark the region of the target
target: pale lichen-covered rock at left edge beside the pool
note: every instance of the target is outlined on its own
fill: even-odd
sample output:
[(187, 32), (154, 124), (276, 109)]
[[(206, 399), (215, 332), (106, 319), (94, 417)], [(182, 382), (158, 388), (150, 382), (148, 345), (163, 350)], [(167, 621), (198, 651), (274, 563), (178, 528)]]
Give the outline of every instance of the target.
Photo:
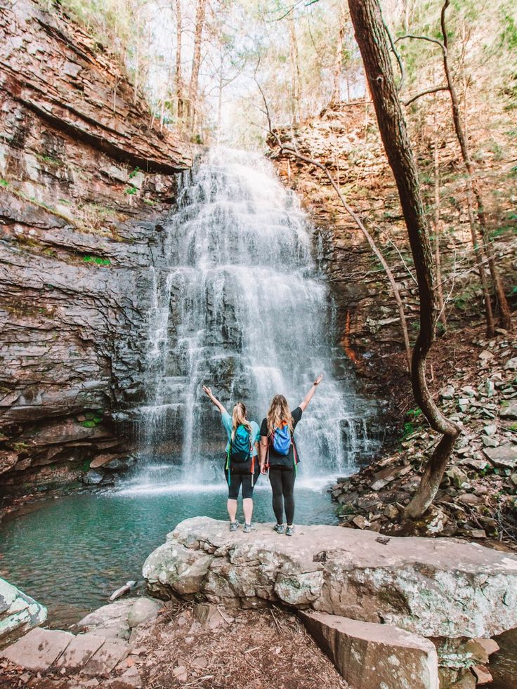
[(46, 608), (0, 579), (0, 648), (46, 620)]

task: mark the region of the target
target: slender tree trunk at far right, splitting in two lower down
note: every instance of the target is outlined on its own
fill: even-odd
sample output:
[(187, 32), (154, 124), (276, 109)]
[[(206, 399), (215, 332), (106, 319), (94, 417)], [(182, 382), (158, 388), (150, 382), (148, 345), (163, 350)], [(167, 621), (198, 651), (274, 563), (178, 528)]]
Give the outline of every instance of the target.
[[(480, 234), (481, 234), (481, 240), (483, 242), (483, 252), (485, 253), (487, 260), (488, 260), (488, 266), (490, 268), (490, 275), (492, 275), (492, 282), (494, 283), (495, 287), (495, 292), (497, 294), (497, 301), (499, 301), (499, 311), (501, 314), (501, 324), (502, 327), (506, 328), (507, 330), (511, 329), (511, 315), (510, 315), (510, 308), (508, 305), (508, 301), (506, 299), (506, 294), (504, 292), (504, 285), (502, 284), (501, 276), (499, 275), (499, 270), (497, 270), (497, 266), (495, 265), (495, 257), (494, 257), (494, 251), (493, 251), (493, 245), (492, 242), (490, 242), (489, 237), (487, 236), (487, 226), (486, 226), (486, 217), (485, 217), (485, 212), (484, 212), (484, 207), (483, 207), (483, 199), (481, 197), (481, 193), (478, 187), (478, 184), (475, 179), (475, 170), (474, 170), (474, 165), (472, 162), (472, 159), (470, 157), (470, 152), (469, 152), (469, 145), (466, 140), (466, 136), (463, 130), (462, 126), (462, 119), (459, 114), (459, 103), (458, 103), (458, 97), (456, 93), (456, 88), (454, 87), (454, 81), (452, 81), (452, 74), (450, 72), (450, 67), (449, 67), (449, 39), (447, 36), (447, 26), (445, 25), (445, 13), (447, 11), (447, 8), (450, 5), (450, 0), (445, 0), (445, 3), (443, 4), (442, 8), (442, 13), (441, 13), (441, 27), (442, 27), (442, 37), (443, 37), (443, 69), (445, 71), (445, 78), (447, 79), (447, 86), (449, 88), (449, 93), (450, 93), (450, 100), (451, 100), (451, 105), (452, 105), (452, 119), (454, 122), (454, 131), (456, 132), (456, 136), (459, 142), (459, 147), (462, 151), (462, 158), (463, 162), (465, 165), (466, 169), (466, 175), (467, 175), (467, 185), (468, 185), (468, 194), (467, 194), (467, 200), (469, 204), (469, 221), (471, 222), (471, 233), (472, 233), (472, 241), (474, 245), (474, 251), (476, 252), (476, 261), (478, 262), (478, 267), (480, 270), (480, 280), (481, 284), (483, 286), (483, 294), (485, 294), (485, 310), (487, 314), (487, 332), (489, 335), (494, 334), (494, 316), (492, 314), (492, 304), (490, 303), (490, 294), (488, 292), (487, 284), (486, 284), (486, 278), (485, 278), (485, 269), (483, 268), (483, 263), (482, 259), (478, 257), (478, 254), (480, 254), (480, 251), (478, 249), (478, 242), (477, 242), (477, 232), (476, 232), (476, 221), (474, 218), (473, 210), (472, 210), (472, 198), (476, 199), (476, 206), (477, 206), (477, 215), (478, 215), (478, 221), (479, 221), (479, 226), (480, 226)], [(488, 301), (488, 303), (487, 303)]]

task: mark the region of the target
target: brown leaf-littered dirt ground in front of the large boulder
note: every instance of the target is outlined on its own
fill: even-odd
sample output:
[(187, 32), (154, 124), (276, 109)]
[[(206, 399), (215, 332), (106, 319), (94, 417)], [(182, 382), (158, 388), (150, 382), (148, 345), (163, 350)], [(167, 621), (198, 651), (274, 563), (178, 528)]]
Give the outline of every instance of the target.
[(169, 601), (135, 633), (132, 652), (110, 676), (37, 674), (1, 662), (0, 689), (348, 689), (298, 617), (279, 608)]

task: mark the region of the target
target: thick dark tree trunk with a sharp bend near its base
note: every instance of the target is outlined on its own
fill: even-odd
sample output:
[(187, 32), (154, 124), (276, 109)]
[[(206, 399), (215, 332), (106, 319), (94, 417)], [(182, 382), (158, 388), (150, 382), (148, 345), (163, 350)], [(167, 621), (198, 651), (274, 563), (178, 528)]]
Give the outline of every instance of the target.
[(436, 289), (431, 244), (421, 200), (417, 166), (395, 86), (384, 22), (377, 0), (348, 0), (355, 39), (365, 65), (388, 162), (397, 183), (407, 233), (417, 273), (420, 299), (420, 332), (413, 348), (411, 381), (415, 400), (431, 428), (443, 434), (428, 460), (424, 475), (405, 515), (421, 516), (433, 501), (449, 461), (459, 428), (436, 406), (426, 381), (426, 358), (435, 339)]

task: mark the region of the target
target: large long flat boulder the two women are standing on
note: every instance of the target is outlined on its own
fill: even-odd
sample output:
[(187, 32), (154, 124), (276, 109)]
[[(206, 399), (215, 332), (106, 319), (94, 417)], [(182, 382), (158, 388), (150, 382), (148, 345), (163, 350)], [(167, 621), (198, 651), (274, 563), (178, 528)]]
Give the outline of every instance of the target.
[(386, 539), (334, 526), (300, 526), (287, 538), (272, 525), (230, 533), (226, 522), (196, 517), (150, 554), (143, 576), (161, 598), (280, 602), (426, 637), (517, 627), (517, 558), (454, 539)]

